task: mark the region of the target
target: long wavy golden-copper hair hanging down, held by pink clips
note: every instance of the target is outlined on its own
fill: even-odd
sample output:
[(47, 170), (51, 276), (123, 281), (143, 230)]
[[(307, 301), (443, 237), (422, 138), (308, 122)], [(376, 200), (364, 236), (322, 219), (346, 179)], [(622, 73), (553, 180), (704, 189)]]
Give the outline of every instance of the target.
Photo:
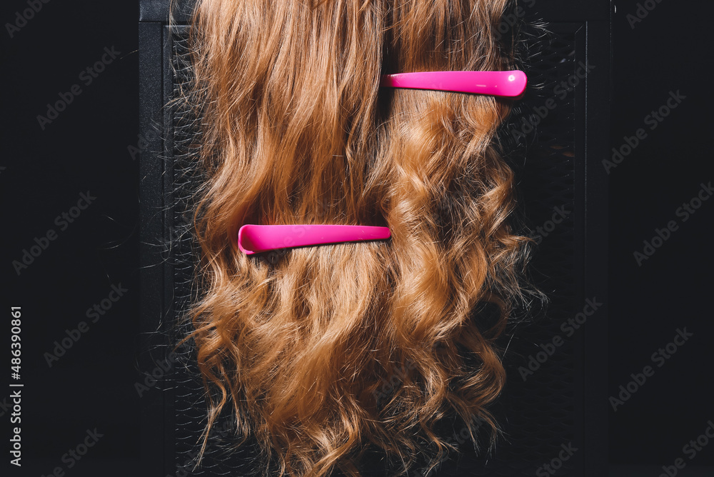
[[(226, 406), (279, 475), (359, 476), (366, 448), (406, 472), (455, 448), (438, 433), (446, 416), (475, 441), (479, 424), (496, 436), (496, 338), (528, 258), (496, 139), (511, 101), (378, 84), (512, 68), (497, 41), (507, 3), (198, 0), (201, 452)], [(243, 224), (388, 226), (392, 238), (246, 256)]]

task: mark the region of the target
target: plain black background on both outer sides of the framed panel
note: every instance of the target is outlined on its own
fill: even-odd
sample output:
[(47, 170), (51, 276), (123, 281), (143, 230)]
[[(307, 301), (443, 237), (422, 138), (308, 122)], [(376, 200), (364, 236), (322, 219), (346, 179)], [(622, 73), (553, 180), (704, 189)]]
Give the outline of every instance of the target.
[[(714, 8), (705, 1), (652, 4), (642, 21), (631, 24), (628, 14), (635, 14), (638, 2), (619, 1), (613, 19), (610, 147), (619, 148), (639, 128), (647, 137), (610, 171), (610, 331), (602, 353), (610, 368), (608, 393), (615, 395), (630, 373), (653, 364), (650, 355), (672, 341), (677, 328), (693, 333), (618, 411), (610, 411), (610, 463), (650, 464), (650, 475), (658, 475), (660, 466), (684, 457), (683, 446), (714, 420), (714, 199), (687, 221), (676, 215), (700, 184), (714, 180), (707, 40)], [(49, 475), (56, 466), (69, 476), (142, 475), (141, 398), (134, 386), (142, 379), (136, 365), (139, 159), (131, 154), (141, 146), (138, 6), (58, 0), (41, 6), (12, 37), (6, 24), (29, 8), (27, 1), (7, 1), (0, 16), (0, 347), (9, 367), (10, 306), (21, 306), (24, 383), (20, 470), (7, 464), (6, 368), (0, 441), (7, 460), (0, 465), (9, 468), (6, 475)], [(101, 59), (105, 47), (121, 53), (86, 85), (79, 75)], [(81, 94), (42, 129), (37, 116), (46, 116), (47, 104), (74, 84)], [(645, 116), (665, 104), (670, 91), (685, 99), (650, 130)], [(61, 230), (56, 217), (87, 191), (96, 199)], [(671, 220), (679, 229), (638, 265), (633, 253)], [(56, 240), (16, 273), (13, 261), (21, 261), (49, 229)], [(120, 283), (124, 296), (91, 323), (88, 308)], [(54, 342), (81, 321), (89, 330), (48, 366), (45, 353), (53, 353)], [(95, 428), (99, 441), (68, 468), (63, 455)], [(714, 442), (685, 460), (690, 469), (714, 465)]]

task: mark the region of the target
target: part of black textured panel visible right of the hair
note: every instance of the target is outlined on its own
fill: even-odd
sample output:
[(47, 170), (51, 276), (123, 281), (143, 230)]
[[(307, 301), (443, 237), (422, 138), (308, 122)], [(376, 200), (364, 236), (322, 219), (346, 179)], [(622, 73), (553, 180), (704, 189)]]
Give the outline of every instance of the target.
[[(575, 71), (575, 35), (554, 31), (544, 41), (528, 70), (529, 80), (540, 89), (524, 98), (528, 114), (512, 127), (528, 131), (523, 129), (525, 124), (536, 126), (535, 132), (528, 134), (533, 143), (528, 146), (526, 161), (517, 169), (518, 195), (532, 236), (539, 242), (531, 271), (550, 303), (545, 317), (518, 326), (508, 344), (504, 358), (508, 382), (498, 407), (510, 443), (500, 446), (489, 463), (489, 468), (498, 469), (493, 475), (533, 476), (558, 456), (562, 444), (576, 440), (575, 341), (560, 331), (561, 323), (575, 315), (579, 299), (573, 219), (583, 211), (575, 201), (575, 89), (553, 97), (556, 85)], [(552, 109), (545, 106), (548, 100), (555, 104)], [(553, 221), (554, 214), (560, 223)], [(563, 338), (563, 344), (551, 348), (552, 356), (539, 362), (540, 368), (532, 374), (527, 373), (525, 370), (531, 371), (530, 357), (543, 352), (539, 345), (551, 343), (556, 335)], [(576, 462), (572, 458), (563, 461), (554, 475), (572, 475)]]

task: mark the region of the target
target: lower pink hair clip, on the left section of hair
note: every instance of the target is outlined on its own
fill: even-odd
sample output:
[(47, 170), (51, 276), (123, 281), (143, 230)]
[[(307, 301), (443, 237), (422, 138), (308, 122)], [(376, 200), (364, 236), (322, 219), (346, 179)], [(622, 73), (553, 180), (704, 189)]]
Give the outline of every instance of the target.
[(238, 230), (238, 248), (246, 255), (277, 248), (321, 245), (323, 243), (383, 240), (391, 236), (388, 227), (361, 225), (253, 225)]

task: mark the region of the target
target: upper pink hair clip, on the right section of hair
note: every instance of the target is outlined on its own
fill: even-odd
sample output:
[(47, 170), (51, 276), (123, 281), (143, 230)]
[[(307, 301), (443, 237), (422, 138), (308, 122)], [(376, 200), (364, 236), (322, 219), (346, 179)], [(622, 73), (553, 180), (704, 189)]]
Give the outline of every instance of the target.
[(528, 78), (521, 70), (511, 71), (423, 71), (385, 74), (379, 86), (437, 89), (492, 96), (521, 96)]

